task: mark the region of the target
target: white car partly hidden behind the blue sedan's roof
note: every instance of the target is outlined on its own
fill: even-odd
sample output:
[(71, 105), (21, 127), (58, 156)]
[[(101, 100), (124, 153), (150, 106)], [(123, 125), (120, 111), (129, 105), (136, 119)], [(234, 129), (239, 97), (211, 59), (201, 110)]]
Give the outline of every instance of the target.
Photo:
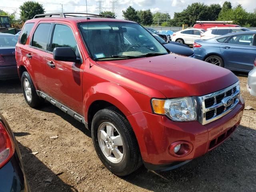
[(212, 27), (212, 28), (208, 28), (206, 32), (201, 34), (200, 39), (206, 40), (206, 39), (211, 39), (214, 37), (226, 35), (228, 33), (242, 32), (242, 31), (250, 31), (250, 30), (244, 27)]

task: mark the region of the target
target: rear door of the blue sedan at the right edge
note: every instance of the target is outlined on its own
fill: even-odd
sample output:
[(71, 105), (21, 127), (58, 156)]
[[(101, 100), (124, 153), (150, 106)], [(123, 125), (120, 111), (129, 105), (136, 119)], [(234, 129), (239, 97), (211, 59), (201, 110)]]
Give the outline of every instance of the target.
[(256, 35), (231, 36), (220, 46), (220, 50), (226, 68), (248, 72), (252, 70), (256, 58)]

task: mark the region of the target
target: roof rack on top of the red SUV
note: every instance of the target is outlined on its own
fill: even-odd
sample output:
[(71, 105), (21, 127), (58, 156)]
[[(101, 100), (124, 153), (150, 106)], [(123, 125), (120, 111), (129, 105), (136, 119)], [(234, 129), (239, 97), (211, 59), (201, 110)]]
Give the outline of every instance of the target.
[[(77, 16), (79, 15), (79, 16)], [(81, 16), (86, 15), (86, 16)], [(66, 18), (66, 17), (100, 17), (100, 18), (113, 18), (110, 15), (96, 15), (90, 13), (45, 13), (45, 14), (38, 14), (33, 17), (35, 18), (44, 18), (44, 17), (57, 17), (57, 18)]]

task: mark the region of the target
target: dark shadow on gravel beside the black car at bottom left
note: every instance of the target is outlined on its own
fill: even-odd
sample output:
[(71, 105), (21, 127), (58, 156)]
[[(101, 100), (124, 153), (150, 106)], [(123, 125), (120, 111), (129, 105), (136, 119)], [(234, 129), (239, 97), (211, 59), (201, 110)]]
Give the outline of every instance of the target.
[[(61, 174), (57, 176), (44, 162), (41, 162), (35, 155), (31, 154), (32, 151), (29, 148), (19, 142), (18, 145), (31, 192), (78, 192), (76, 188), (60, 179)], [(46, 181), (49, 178), (52, 178), (51, 182)]]

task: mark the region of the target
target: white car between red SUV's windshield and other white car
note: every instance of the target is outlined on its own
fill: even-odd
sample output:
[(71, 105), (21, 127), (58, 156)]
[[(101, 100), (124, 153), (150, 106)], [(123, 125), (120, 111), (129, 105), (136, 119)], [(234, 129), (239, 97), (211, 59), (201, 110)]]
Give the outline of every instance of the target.
[(172, 34), (172, 41), (193, 45), (196, 39), (200, 39), (200, 35), (206, 32), (204, 29), (189, 28)]

